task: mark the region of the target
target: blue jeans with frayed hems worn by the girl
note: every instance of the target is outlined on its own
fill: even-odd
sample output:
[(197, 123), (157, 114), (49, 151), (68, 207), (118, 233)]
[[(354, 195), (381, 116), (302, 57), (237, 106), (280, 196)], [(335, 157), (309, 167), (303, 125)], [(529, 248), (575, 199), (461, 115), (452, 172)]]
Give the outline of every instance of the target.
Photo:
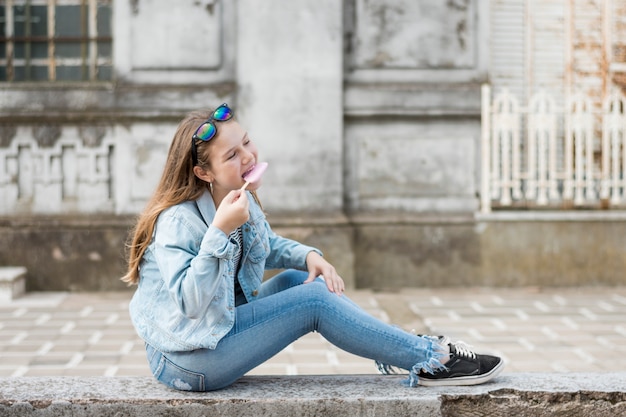
[(436, 340), (376, 319), (321, 279), (301, 285), (307, 276), (288, 270), (263, 283), (257, 300), (236, 307), (235, 325), (215, 350), (162, 353), (146, 345), (153, 375), (178, 390), (225, 388), (313, 331), (347, 352), (409, 370), (410, 385), (421, 369), (443, 367)]

